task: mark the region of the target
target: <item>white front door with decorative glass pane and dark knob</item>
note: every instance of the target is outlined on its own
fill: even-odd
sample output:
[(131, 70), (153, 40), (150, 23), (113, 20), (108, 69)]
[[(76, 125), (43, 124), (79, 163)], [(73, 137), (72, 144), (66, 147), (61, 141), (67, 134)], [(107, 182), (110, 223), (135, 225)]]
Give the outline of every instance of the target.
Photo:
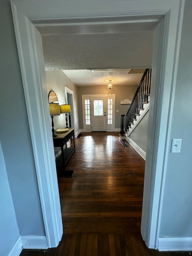
[(91, 97), (91, 131), (106, 131), (106, 97)]

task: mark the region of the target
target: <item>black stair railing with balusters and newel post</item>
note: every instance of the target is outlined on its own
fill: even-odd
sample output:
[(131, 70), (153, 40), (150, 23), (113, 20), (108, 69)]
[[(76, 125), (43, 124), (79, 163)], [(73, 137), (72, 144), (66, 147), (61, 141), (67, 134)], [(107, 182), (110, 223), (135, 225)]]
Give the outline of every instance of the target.
[(137, 87), (133, 100), (128, 108), (126, 115), (121, 115), (121, 131), (120, 134), (124, 135), (136, 117), (139, 116), (139, 111), (143, 110), (143, 104), (148, 102), (151, 85), (151, 68), (147, 68), (143, 77)]

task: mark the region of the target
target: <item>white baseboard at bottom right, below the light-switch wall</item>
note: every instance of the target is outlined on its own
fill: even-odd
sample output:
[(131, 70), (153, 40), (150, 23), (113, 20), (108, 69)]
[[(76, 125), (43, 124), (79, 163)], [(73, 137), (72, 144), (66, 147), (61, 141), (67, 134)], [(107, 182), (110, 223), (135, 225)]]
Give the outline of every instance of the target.
[(192, 251), (192, 237), (159, 237), (159, 251)]

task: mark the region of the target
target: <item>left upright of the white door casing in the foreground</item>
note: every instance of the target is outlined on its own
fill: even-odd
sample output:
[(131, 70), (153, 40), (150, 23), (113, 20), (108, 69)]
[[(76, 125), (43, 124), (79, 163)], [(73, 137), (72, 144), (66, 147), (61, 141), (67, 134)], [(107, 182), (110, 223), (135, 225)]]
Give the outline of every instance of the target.
[[(55, 155), (47, 101), (41, 35), (11, 2), (23, 89), (35, 159), (41, 209), (48, 247), (56, 247), (63, 233)], [(50, 131), (49, 131), (50, 129)]]

